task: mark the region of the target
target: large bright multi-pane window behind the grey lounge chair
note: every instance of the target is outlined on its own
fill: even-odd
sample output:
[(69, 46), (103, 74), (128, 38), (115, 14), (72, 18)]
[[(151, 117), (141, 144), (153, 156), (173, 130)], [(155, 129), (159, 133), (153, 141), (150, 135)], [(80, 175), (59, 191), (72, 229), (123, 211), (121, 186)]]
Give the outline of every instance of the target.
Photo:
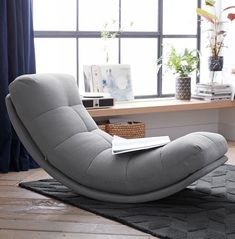
[[(130, 64), (137, 98), (174, 94), (156, 61), (165, 46), (199, 48), (200, 0), (33, 0), (37, 73), (63, 72), (84, 89), (83, 65)], [(130, 24), (133, 22), (133, 24)], [(118, 31), (104, 40), (101, 31)], [(193, 77), (196, 81), (196, 76)]]

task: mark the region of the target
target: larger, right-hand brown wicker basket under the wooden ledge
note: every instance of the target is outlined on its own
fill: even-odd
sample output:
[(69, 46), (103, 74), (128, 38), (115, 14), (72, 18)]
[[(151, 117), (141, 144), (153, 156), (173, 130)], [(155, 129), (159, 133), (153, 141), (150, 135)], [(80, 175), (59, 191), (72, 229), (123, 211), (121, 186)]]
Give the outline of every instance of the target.
[(143, 138), (145, 136), (145, 124), (134, 121), (106, 124), (106, 132), (126, 139)]

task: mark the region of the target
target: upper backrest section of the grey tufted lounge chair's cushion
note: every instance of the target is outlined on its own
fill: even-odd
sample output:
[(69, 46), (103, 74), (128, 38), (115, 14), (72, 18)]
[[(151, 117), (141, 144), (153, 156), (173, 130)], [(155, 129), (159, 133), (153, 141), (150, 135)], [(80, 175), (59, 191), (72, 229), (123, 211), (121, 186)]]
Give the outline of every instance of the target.
[(76, 134), (97, 129), (70, 75), (23, 75), (10, 84), (9, 92), (19, 118), (44, 155)]

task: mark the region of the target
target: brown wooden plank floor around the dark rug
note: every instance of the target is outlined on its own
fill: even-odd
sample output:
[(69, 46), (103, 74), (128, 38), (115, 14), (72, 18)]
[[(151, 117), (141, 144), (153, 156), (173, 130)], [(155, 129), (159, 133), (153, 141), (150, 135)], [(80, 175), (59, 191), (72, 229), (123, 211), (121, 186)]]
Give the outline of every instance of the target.
[[(235, 142), (229, 143), (227, 156), (235, 164)], [(42, 169), (0, 174), (1, 239), (156, 238), (17, 186), (48, 177)]]

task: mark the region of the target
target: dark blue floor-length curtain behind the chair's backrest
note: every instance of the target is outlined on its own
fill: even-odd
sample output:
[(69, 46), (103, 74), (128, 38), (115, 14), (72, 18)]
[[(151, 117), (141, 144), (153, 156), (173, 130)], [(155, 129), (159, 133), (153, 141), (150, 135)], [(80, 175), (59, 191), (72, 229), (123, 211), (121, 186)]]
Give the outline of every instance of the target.
[(5, 106), (8, 85), (35, 73), (31, 0), (0, 0), (0, 172), (37, 167), (13, 130)]

